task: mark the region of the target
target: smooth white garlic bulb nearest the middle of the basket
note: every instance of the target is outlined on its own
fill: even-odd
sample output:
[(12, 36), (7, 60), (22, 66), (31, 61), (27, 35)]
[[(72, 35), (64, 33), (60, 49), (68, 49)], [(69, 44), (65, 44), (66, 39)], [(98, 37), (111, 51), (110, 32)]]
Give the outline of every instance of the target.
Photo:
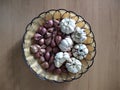
[(70, 37), (66, 37), (59, 44), (59, 48), (62, 51), (70, 51), (72, 46), (73, 46), (73, 41), (72, 41), (72, 39)]

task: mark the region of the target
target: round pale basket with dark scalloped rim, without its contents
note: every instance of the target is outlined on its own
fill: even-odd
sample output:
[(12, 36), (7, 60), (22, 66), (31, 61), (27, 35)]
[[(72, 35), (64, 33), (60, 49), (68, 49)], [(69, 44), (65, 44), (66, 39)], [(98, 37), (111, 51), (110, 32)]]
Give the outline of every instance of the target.
[[(37, 59), (33, 57), (30, 53), (31, 38), (35, 34), (36, 30), (40, 25), (43, 25), (47, 20), (57, 19), (61, 20), (63, 18), (71, 18), (76, 21), (76, 26), (84, 28), (87, 34), (87, 40), (84, 41), (86, 44), (89, 53), (86, 58), (81, 60), (82, 69), (79, 73), (76, 74), (61, 74), (55, 75), (49, 73), (41, 68), (40, 64), (37, 62)], [(42, 80), (49, 80), (53, 82), (68, 82), (75, 79), (78, 79), (88, 71), (94, 62), (94, 57), (96, 54), (96, 43), (94, 39), (94, 34), (91, 31), (91, 27), (88, 22), (85, 21), (80, 15), (77, 15), (73, 11), (67, 11), (65, 9), (49, 10), (47, 12), (42, 12), (38, 17), (35, 17), (26, 27), (26, 31), (23, 37), (22, 43), (23, 56), (26, 64), (29, 66), (30, 70), (35, 73), (35, 75)]]

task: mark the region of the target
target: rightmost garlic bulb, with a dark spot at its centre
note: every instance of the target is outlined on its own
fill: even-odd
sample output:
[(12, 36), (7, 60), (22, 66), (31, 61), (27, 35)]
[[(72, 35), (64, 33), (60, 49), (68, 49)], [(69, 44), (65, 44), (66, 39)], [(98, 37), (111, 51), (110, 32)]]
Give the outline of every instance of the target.
[(88, 54), (88, 49), (87, 49), (86, 45), (84, 45), (84, 44), (77, 44), (72, 49), (72, 53), (73, 53), (74, 57), (82, 60)]

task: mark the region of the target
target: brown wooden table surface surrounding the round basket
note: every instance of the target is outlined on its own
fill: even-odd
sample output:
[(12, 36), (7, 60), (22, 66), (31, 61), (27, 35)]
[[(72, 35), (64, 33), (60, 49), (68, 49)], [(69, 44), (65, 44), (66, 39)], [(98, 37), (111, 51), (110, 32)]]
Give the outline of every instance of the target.
[[(23, 61), (26, 25), (42, 11), (64, 8), (83, 16), (96, 36), (97, 55), (79, 80), (50, 83)], [(0, 0), (0, 90), (120, 90), (120, 0)]]

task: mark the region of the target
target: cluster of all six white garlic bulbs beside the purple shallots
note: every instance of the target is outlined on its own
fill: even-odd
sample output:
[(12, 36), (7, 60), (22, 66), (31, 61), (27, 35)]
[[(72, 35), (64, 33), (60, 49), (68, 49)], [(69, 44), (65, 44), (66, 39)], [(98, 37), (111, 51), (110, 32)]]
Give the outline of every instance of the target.
[[(84, 29), (75, 25), (75, 21), (70, 18), (64, 18), (60, 22), (61, 31), (67, 35), (59, 44), (62, 52), (55, 55), (54, 64), (57, 68), (64, 63), (67, 70), (71, 73), (78, 73), (81, 70), (82, 63), (80, 60), (84, 59), (88, 54), (88, 49), (85, 44), (82, 44), (86, 39)], [(68, 52), (72, 52), (70, 57)]]

